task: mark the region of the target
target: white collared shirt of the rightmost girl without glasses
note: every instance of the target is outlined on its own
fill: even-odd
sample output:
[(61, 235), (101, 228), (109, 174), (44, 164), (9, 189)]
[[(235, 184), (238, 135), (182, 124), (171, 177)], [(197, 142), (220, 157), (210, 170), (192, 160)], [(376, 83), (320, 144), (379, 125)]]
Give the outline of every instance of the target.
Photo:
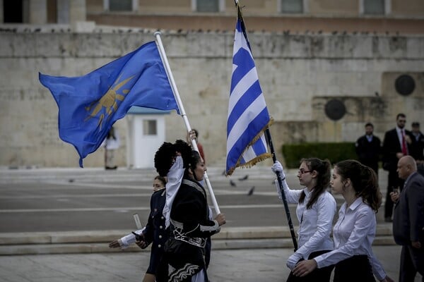
[(367, 255), (372, 272), (381, 281), (386, 277), (382, 265), (372, 253), (377, 221), (375, 212), (359, 197), (346, 209), (346, 202), (340, 207), (338, 221), (333, 228), (334, 250), (315, 257), (318, 268), (336, 264), (355, 255)]

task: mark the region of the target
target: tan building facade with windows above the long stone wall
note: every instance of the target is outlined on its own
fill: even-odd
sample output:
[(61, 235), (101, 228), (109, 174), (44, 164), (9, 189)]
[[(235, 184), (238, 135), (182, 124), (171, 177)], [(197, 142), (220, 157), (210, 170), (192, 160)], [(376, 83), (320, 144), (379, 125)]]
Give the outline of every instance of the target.
[[(0, 8), (4, 23), (94, 21), (163, 30), (233, 30), (230, 0), (16, 0)], [(267, 32), (422, 34), (421, 0), (240, 0), (248, 29)]]

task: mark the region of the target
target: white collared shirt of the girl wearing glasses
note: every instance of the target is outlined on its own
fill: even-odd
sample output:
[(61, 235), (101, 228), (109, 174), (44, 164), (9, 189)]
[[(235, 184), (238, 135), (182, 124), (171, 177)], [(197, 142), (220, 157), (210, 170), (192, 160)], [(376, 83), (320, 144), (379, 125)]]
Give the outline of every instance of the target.
[(317, 202), (307, 209), (306, 205), (311, 197), (311, 192), (307, 188), (303, 189), (306, 195), (305, 200), (300, 203), (302, 190), (290, 190), (285, 185), (283, 187), (285, 187), (287, 201), (298, 204), (296, 216), (298, 216), (300, 226), (298, 230), (299, 249), (296, 252), (307, 259), (311, 252), (333, 250), (334, 244), (330, 234), (334, 214), (336, 214), (334, 197), (329, 192), (323, 192), (319, 195)]

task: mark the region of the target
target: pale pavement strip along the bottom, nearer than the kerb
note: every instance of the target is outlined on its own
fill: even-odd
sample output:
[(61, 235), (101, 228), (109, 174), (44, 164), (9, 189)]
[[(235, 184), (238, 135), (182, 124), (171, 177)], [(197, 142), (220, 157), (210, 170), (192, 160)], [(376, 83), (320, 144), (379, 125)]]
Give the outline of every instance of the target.
[[(400, 247), (375, 246), (387, 274), (398, 280)], [(290, 248), (213, 250), (208, 275), (212, 282), (285, 281)], [(0, 257), (1, 282), (141, 281), (148, 252), (114, 254), (11, 255)], [(416, 282), (421, 281), (420, 276)]]

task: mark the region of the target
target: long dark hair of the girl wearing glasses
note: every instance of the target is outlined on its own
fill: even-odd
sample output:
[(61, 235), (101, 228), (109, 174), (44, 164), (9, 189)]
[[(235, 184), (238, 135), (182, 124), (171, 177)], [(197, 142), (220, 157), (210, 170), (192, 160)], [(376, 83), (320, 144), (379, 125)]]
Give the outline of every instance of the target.
[[(329, 187), (331, 177), (331, 163), (328, 159), (308, 158), (301, 159), (300, 164), (305, 162), (307, 168), (310, 171), (317, 171), (317, 185), (312, 190), (311, 198), (306, 204), (306, 208), (312, 208), (312, 205), (317, 202), (319, 195), (325, 192), (326, 188)], [(306, 194), (302, 191), (300, 194), (299, 202), (302, 203), (305, 200)]]

